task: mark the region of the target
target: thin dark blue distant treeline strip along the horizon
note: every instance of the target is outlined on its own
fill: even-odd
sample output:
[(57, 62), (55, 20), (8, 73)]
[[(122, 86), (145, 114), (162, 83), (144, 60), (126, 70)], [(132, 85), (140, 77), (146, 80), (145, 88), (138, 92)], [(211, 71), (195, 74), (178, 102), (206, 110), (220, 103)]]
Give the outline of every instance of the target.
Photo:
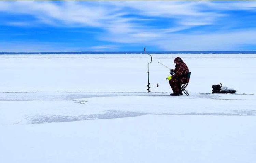
[[(4, 54), (144, 54), (144, 51), (0, 52)], [(256, 54), (256, 51), (147, 51), (146, 54)]]

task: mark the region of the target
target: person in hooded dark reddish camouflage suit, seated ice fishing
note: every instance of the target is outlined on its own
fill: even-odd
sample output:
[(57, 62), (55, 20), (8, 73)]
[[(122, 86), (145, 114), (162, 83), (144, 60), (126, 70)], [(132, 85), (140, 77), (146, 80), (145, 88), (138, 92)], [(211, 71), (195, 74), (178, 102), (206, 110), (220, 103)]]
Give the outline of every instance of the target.
[(171, 70), (175, 74), (171, 76), (171, 79), (169, 80), (169, 84), (172, 88), (173, 93), (171, 93), (171, 96), (179, 96), (182, 95), (181, 91), (181, 84), (187, 83), (187, 75), (188, 75), (188, 67), (183, 62), (183, 60), (180, 57), (177, 57), (174, 59), (175, 69)]

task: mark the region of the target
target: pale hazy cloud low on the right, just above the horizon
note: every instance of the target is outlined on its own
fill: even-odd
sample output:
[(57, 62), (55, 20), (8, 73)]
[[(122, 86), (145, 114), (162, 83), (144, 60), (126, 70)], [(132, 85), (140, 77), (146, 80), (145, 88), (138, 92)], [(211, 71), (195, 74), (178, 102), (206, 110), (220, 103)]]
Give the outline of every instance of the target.
[(254, 44), (256, 47), (255, 36), (256, 29), (211, 34), (171, 34), (168, 39), (158, 40), (156, 43), (167, 51), (246, 50), (243, 48), (246, 44)]

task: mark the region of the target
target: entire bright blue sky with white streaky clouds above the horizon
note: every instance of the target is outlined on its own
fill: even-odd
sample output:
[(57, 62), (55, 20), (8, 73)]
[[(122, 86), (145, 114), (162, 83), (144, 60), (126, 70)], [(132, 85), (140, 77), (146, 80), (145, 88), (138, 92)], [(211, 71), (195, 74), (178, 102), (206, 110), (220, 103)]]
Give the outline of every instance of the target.
[(0, 1), (0, 51), (256, 50), (256, 1)]

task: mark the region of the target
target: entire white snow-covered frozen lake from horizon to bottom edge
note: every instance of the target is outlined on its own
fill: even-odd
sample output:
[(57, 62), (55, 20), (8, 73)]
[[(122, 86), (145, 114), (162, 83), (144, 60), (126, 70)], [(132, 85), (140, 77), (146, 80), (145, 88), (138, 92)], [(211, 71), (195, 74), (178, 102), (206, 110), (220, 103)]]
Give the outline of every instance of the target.
[[(255, 162), (256, 56), (180, 55), (170, 97), (177, 56), (153, 55), (147, 93), (148, 55), (1, 55), (0, 162)], [(203, 94), (219, 83), (254, 94)]]

